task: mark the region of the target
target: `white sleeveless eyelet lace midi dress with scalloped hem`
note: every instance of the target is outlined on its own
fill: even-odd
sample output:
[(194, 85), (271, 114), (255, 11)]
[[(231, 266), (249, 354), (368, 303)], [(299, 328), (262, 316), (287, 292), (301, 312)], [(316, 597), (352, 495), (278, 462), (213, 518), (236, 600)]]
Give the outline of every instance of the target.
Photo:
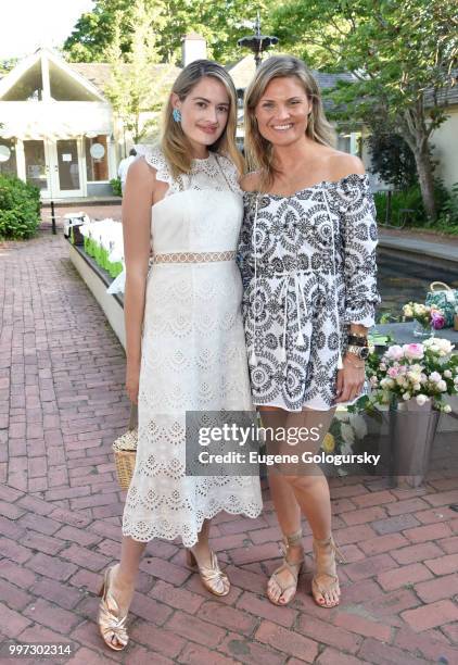
[[(253, 410), (234, 260), (243, 199), (237, 170), (225, 156), (211, 152), (193, 160), (191, 173), (179, 178), (160, 148), (143, 156), (169, 187), (152, 206), (138, 449), (123, 535), (143, 542), (179, 537), (189, 548), (205, 518), (220, 511), (256, 517), (262, 511), (257, 475), (185, 473), (187, 411)], [(191, 253), (199, 262), (180, 262)]]

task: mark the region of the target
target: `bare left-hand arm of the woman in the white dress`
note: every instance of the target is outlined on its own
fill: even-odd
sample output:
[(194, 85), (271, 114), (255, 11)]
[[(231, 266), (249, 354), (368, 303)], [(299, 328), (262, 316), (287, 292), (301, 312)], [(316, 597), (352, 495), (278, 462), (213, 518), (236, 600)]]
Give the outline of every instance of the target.
[(151, 206), (155, 171), (143, 159), (136, 160), (127, 172), (123, 199), (124, 260), (126, 289), (124, 321), (126, 328), (126, 390), (137, 403), (141, 361), (141, 331), (144, 293), (150, 258)]

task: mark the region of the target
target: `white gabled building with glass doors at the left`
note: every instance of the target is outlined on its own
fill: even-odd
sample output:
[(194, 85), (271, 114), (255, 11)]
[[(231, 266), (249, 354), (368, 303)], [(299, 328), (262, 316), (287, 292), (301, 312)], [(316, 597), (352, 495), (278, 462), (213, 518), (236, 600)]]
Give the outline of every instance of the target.
[(67, 63), (48, 49), (20, 62), (0, 79), (0, 173), (36, 185), (42, 199), (111, 195), (131, 141), (103, 93), (110, 77), (109, 64)]

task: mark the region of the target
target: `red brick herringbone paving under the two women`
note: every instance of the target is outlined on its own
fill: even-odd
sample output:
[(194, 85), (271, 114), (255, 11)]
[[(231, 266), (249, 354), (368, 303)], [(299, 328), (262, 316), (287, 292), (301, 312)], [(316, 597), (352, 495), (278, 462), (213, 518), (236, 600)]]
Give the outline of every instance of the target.
[[(203, 590), (178, 544), (150, 542), (131, 644), (125, 654), (103, 648), (94, 591), (119, 553), (123, 495), (110, 447), (128, 414), (124, 353), (49, 231), (0, 246), (0, 641), (72, 642), (74, 656), (55, 663), (458, 663), (453, 472), (431, 474), (427, 491), (333, 482), (348, 563), (332, 611), (313, 603), (309, 572), (291, 606), (266, 600), (280, 561), (267, 493), (258, 519), (216, 519), (213, 544), (233, 585), (226, 599)], [(444, 437), (444, 450), (455, 438)]]

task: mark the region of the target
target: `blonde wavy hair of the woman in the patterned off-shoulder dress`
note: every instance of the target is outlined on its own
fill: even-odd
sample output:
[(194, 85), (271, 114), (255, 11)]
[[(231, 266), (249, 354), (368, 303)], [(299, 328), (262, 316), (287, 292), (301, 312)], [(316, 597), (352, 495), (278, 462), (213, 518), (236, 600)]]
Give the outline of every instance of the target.
[(321, 95), (311, 72), (294, 55), (271, 55), (265, 60), (245, 91), (245, 156), (249, 171), (260, 172), (264, 187), (273, 183), (279, 171), (273, 165), (272, 145), (266, 140), (257, 127), (255, 110), (272, 78), (295, 76), (303, 85), (311, 102), (311, 112), (305, 136), (322, 146), (335, 146), (335, 131), (326, 120)]

